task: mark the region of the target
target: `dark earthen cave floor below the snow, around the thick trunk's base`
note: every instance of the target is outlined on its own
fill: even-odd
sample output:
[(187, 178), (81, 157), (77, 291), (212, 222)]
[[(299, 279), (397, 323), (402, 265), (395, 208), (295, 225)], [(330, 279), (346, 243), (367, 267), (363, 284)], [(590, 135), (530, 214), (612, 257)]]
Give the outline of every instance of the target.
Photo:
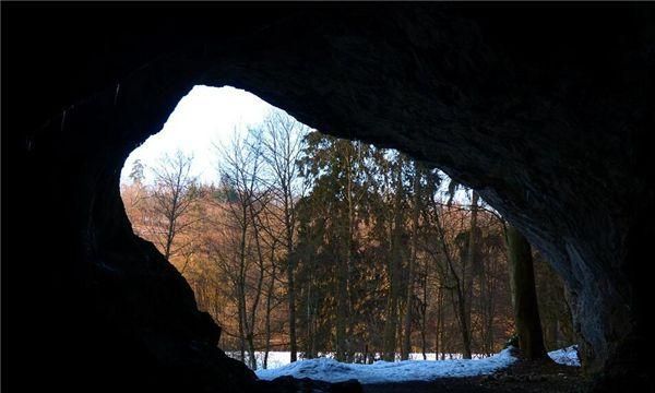
[(580, 367), (551, 361), (519, 360), (493, 374), (468, 378), (442, 378), (430, 382), (365, 384), (366, 393), (424, 392), (585, 392), (588, 379)]

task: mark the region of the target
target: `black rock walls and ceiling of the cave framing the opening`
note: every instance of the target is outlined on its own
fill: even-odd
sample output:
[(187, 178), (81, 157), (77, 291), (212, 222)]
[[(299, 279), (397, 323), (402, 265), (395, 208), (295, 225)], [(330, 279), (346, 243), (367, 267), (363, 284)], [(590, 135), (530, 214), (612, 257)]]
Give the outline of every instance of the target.
[(12, 377), (34, 376), (21, 390), (272, 389), (216, 347), (219, 329), (119, 195), (129, 153), (196, 84), (474, 188), (564, 278), (596, 389), (654, 388), (652, 7), (2, 11), (3, 341)]

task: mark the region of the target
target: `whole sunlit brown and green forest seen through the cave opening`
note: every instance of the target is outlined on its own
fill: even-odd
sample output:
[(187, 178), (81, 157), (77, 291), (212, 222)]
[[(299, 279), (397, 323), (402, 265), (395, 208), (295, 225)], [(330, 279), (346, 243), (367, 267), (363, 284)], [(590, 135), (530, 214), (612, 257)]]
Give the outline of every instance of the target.
[[(475, 191), (281, 110), (215, 154), (216, 183), (178, 151), (127, 168), (121, 195), (133, 231), (222, 327), (221, 348), (252, 369), (274, 350), (368, 364), (490, 356), (515, 340), (509, 245), (521, 235)], [(544, 344), (569, 345), (564, 285), (526, 250)]]

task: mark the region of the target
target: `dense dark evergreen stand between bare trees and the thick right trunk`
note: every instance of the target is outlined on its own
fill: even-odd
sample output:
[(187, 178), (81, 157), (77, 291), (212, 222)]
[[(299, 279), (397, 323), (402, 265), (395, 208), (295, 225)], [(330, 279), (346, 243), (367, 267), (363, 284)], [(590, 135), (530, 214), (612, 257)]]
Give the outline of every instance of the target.
[[(347, 169), (349, 163), (355, 170)], [(344, 333), (340, 321), (346, 320), (349, 348), (360, 353), (377, 348), (386, 359), (398, 349), (401, 358), (407, 358), (415, 349), (415, 333), (421, 350), (427, 350), (432, 331), (438, 332), (433, 345), (441, 347), (446, 345), (446, 330), (460, 332), (461, 347), (451, 349), (466, 357), (474, 345), (498, 349), (512, 319), (507, 258), (499, 241), (502, 226), (493, 214), (478, 211), (476, 194), (472, 205), (448, 205), (439, 195), (436, 170), (398, 153), (319, 133), (308, 136), (303, 164), (313, 183), (302, 200), (303, 212), (310, 213), (300, 215), (303, 260), (330, 266), (319, 273), (324, 285), (309, 274), (311, 278), (301, 284), (311, 286), (308, 294), (320, 293), (325, 299), (313, 300), (307, 309), (331, 315), (322, 321), (322, 329), (321, 322), (303, 323), (312, 331), (307, 334), (309, 347), (319, 341), (319, 347), (332, 348), (337, 357), (354, 357), (347, 346), (344, 354), (337, 349), (344, 345), (338, 340)], [(340, 222), (346, 229), (340, 229)], [(352, 237), (348, 223), (353, 223)], [(475, 234), (473, 241), (469, 233)], [(350, 248), (344, 247), (348, 239)], [(481, 259), (486, 255), (488, 262)], [(503, 263), (504, 270), (499, 269)], [(315, 265), (311, 266), (315, 274)], [(449, 303), (452, 310), (445, 309)], [(504, 312), (500, 326), (496, 310)], [(310, 320), (308, 312), (303, 322)], [(452, 321), (450, 329), (446, 320)], [(490, 324), (497, 330), (487, 327)]]

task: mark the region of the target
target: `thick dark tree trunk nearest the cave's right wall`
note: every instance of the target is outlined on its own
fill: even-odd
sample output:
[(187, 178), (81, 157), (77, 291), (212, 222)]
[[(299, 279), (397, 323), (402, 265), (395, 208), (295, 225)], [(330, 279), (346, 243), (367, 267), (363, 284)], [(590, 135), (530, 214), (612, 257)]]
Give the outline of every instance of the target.
[(508, 250), (519, 346), (529, 359), (546, 358), (532, 250), (527, 239), (512, 226), (508, 227)]

